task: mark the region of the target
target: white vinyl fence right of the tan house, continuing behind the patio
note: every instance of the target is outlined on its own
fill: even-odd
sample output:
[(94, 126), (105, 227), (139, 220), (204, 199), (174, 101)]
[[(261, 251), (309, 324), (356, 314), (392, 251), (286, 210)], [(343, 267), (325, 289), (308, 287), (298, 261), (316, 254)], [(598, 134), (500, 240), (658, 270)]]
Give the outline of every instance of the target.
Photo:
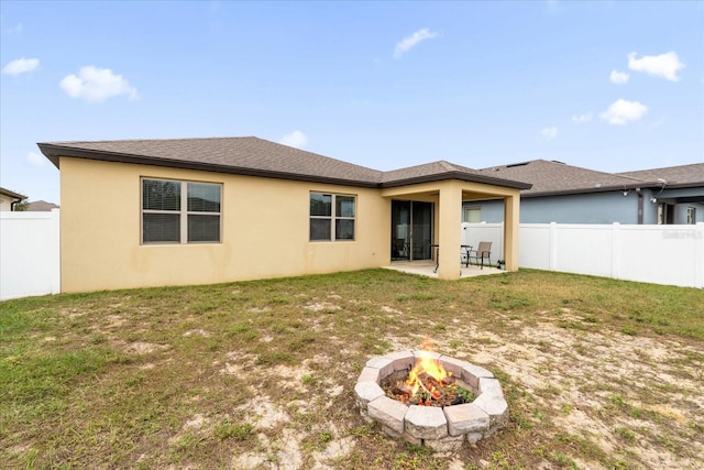
[[(504, 258), (503, 223), (462, 223), (462, 243), (491, 241)], [(704, 287), (704, 223), (521, 223), (518, 265), (683, 287)]]

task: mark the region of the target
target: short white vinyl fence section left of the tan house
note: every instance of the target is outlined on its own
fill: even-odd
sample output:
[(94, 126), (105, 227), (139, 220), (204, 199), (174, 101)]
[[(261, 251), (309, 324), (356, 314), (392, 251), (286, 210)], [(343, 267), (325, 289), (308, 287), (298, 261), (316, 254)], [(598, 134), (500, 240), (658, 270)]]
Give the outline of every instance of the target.
[(58, 218), (0, 211), (0, 300), (61, 292)]

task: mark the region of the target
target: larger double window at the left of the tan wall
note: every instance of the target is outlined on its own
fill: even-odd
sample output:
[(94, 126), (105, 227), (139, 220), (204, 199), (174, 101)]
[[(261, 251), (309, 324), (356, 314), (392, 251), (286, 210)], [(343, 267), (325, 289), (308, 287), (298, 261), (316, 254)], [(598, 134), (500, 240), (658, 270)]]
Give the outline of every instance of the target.
[(142, 179), (142, 243), (219, 243), (221, 185)]

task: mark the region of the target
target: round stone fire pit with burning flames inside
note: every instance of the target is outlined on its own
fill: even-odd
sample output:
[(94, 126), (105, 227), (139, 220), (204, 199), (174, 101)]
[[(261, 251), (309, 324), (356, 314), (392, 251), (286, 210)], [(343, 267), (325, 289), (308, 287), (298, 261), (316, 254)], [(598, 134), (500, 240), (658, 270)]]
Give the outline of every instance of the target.
[(440, 452), (508, 423), (508, 404), (492, 372), (427, 349), (370, 359), (354, 394), (362, 416), (388, 436)]

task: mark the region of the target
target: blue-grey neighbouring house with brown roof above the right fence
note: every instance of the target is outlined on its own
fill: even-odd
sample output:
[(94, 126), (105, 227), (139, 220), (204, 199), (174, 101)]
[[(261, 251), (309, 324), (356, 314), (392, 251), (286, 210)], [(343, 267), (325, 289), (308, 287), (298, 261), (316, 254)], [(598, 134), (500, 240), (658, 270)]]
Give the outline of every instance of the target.
[[(532, 184), (520, 193), (522, 223), (696, 223), (704, 221), (704, 163), (604, 173), (534, 160), (481, 170)], [(463, 221), (501, 222), (503, 201), (463, 203)]]

